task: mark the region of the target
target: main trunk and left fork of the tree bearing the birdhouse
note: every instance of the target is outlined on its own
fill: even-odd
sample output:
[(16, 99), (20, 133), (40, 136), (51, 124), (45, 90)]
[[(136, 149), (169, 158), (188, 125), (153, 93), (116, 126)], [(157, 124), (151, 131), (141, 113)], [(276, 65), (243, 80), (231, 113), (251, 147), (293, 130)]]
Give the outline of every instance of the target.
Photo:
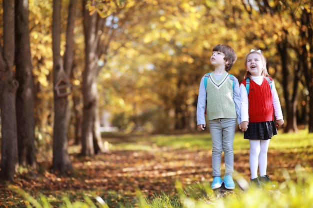
[[(60, 55), (60, 10), (61, 0), (53, 0), (52, 19), (52, 52), (53, 52), (53, 95), (54, 95), (54, 125), (53, 125), (53, 162), (52, 170), (56, 173), (66, 174), (72, 171), (71, 162), (67, 153), (67, 124), (68, 124), (68, 98), (57, 92), (62, 82), (69, 83), (62, 58)], [(68, 84), (67, 83), (67, 84)]]

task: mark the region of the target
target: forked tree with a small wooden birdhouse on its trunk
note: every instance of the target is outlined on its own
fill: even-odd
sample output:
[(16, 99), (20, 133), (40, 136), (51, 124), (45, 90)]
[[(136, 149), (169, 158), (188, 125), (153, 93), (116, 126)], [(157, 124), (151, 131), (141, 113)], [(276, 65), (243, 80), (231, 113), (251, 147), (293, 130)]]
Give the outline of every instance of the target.
[(68, 97), (69, 74), (73, 57), (73, 19), (76, 1), (69, 4), (65, 52), (65, 66), (60, 55), (61, 44), (61, 0), (53, 0), (52, 14), (52, 51), (53, 51), (53, 97), (54, 97), (54, 125), (53, 125), (53, 162), (52, 170), (60, 174), (71, 172), (72, 166), (67, 152), (68, 127)]

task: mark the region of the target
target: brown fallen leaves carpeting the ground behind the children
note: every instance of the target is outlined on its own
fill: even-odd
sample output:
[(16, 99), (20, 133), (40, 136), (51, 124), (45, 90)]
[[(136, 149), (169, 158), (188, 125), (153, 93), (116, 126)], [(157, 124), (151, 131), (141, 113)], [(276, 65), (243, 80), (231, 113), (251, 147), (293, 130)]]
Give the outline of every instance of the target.
[[(246, 180), (249, 179), (248, 157), (246, 151), (234, 154), (234, 169)], [(312, 152), (305, 149), (268, 152), (267, 172), (273, 181), (284, 181), (281, 174), (283, 170), (289, 171), (292, 176), (297, 164), (312, 172)], [(93, 159), (75, 158), (72, 165), (75, 172), (71, 177), (58, 177), (47, 171), (41, 175), (27, 172), (18, 175), (14, 185), (31, 196), (38, 197), (42, 193), (56, 199), (64, 195), (78, 199), (77, 191), (94, 191), (103, 199), (108, 199), (109, 194), (114, 192), (119, 197), (110, 200), (117, 202), (118, 198), (133, 200), (136, 190), (140, 190), (144, 197), (151, 197), (161, 191), (175, 195), (175, 181), (188, 186), (193, 183), (210, 183), (212, 180), (210, 150), (111, 151)], [(223, 171), (223, 164), (221, 168)], [(293, 180), (296, 180), (295, 177)], [(6, 202), (7, 206), (11, 201), (23, 200), (3, 184), (0, 185), (0, 193), (0, 202)]]

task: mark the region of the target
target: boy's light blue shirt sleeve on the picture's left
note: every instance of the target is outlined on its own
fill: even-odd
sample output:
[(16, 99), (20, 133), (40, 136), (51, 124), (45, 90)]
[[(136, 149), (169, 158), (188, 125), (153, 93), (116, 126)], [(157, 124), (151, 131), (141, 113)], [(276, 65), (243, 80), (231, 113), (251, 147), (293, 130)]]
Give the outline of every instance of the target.
[(199, 85), (198, 101), (196, 105), (196, 123), (197, 125), (205, 124), (205, 107), (206, 107), (206, 89), (204, 88), (204, 76), (201, 78)]

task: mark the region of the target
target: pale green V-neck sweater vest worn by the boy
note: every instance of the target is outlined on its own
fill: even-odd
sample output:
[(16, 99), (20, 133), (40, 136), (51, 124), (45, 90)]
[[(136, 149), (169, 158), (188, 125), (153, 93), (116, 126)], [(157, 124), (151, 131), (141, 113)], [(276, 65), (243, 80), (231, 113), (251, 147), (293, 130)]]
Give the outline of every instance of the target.
[(206, 115), (208, 120), (237, 118), (233, 101), (232, 80), (223, 73), (219, 80), (211, 74), (206, 83)]

